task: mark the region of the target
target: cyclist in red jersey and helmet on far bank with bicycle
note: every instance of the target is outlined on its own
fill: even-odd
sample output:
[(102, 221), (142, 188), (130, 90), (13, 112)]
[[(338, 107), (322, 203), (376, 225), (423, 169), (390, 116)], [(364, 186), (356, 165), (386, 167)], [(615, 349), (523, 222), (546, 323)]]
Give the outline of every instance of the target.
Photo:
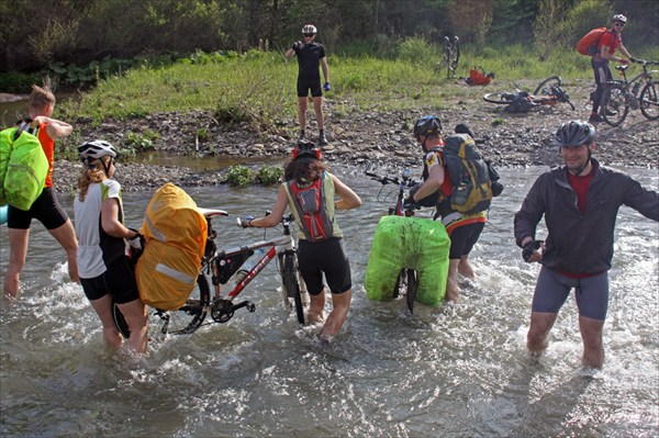
[[(608, 68), (608, 61), (613, 60), (621, 64), (627, 64), (629, 60), (635, 61), (634, 57), (629, 54), (625, 45), (623, 44), (623, 29), (627, 23), (627, 18), (623, 14), (615, 14), (612, 19), (613, 24), (611, 29), (604, 32), (604, 35), (600, 38), (597, 44), (597, 53), (593, 55), (591, 59), (591, 66), (595, 74), (595, 92), (592, 94), (593, 98), (593, 111), (590, 115), (589, 122), (602, 122), (602, 115), (599, 114), (600, 101), (602, 94), (606, 88), (606, 81), (612, 80), (611, 69)], [(614, 56), (616, 49), (623, 53), (627, 58), (619, 58)]]

